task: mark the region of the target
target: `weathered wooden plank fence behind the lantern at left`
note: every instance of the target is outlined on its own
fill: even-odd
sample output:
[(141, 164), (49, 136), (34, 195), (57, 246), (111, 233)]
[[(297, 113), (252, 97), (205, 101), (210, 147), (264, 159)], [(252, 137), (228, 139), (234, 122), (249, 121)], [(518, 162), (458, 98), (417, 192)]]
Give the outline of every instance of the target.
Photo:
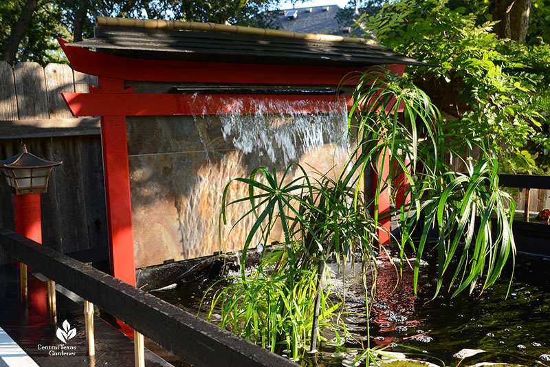
[[(0, 61), (0, 160), (21, 152), (51, 161), (48, 192), (41, 195), (43, 242), (70, 253), (107, 246), (100, 120), (74, 118), (61, 92), (86, 93), (97, 78), (69, 65)], [(0, 227), (14, 229), (13, 199), (0, 185)], [(8, 262), (0, 249), (0, 264)]]

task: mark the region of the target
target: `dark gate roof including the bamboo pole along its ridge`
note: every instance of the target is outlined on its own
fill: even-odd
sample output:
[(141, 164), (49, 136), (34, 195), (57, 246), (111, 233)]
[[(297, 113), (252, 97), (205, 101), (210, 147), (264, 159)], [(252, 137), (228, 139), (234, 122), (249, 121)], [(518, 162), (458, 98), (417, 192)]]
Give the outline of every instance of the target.
[(152, 60), (326, 67), (428, 65), (365, 38), (146, 19), (99, 17), (94, 38), (68, 45)]

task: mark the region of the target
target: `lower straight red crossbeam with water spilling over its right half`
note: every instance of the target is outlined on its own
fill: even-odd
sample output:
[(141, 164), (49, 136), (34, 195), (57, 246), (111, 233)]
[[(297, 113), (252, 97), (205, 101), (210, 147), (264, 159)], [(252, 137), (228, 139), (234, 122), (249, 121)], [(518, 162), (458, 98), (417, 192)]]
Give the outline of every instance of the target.
[[(350, 96), (62, 93), (75, 116), (225, 115), (341, 111)], [(280, 101), (284, 103), (271, 103)]]

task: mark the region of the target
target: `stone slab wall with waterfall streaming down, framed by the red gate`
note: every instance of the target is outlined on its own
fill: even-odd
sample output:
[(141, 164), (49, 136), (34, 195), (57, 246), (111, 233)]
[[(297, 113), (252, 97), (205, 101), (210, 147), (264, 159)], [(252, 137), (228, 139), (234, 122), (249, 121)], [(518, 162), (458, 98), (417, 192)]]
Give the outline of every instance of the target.
[[(246, 203), (227, 209), (219, 243), (219, 212), (230, 179), (250, 175), (257, 166), (281, 172), (290, 163), (336, 175), (347, 158), (347, 108), (336, 97), (246, 104), (239, 96), (222, 103), (201, 96), (201, 101), (203, 115), (128, 119), (138, 267), (241, 249), (251, 223), (232, 224), (250, 209)], [(212, 111), (214, 105), (223, 110)], [(326, 112), (303, 113), (308, 109)], [(248, 188), (234, 183), (227, 200), (246, 194)], [(275, 230), (273, 236), (278, 239)]]

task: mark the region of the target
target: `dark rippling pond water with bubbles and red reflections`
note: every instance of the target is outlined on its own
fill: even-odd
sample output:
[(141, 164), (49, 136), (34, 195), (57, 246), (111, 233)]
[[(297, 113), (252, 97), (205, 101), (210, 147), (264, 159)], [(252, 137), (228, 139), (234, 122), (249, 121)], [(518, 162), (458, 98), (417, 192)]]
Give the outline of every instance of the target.
[[(380, 256), (379, 260), (377, 294), (370, 319), (371, 346), (387, 346), (388, 351), (412, 353), (415, 359), (440, 366), (443, 363), (445, 366), (472, 366), (480, 362), (533, 366), (536, 361), (539, 366), (550, 366), (544, 357), (550, 355), (550, 258), (518, 255), (507, 298), (511, 263), (498, 282), (481, 294), (479, 289), (474, 289), (472, 295), (465, 292), (450, 298), (443, 290), (434, 300), (437, 254), (428, 256), (421, 268), (416, 298), (408, 266), (403, 267), (403, 276), (397, 282), (395, 267), (388, 258)], [(398, 262), (394, 264), (399, 267)], [(353, 289), (353, 274), (346, 279), (347, 287)], [(203, 293), (212, 282), (207, 277), (154, 294), (197, 313)], [(338, 291), (337, 284), (334, 288)], [(361, 297), (360, 293), (350, 291), (347, 311), (355, 312), (344, 316), (347, 328), (355, 340), (366, 340), (364, 294)], [(329, 330), (323, 331), (323, 335), (328, 340), (333, 337)], [(322, 342), (316, 361), (305, 357), (298, 363), (303, 366), (346, 365), (353, 354), (345, 352), (359, 346), (352, 339), (343, 346)], [(454, 357), (466, 348), (483, 352), (463, 361)]]

